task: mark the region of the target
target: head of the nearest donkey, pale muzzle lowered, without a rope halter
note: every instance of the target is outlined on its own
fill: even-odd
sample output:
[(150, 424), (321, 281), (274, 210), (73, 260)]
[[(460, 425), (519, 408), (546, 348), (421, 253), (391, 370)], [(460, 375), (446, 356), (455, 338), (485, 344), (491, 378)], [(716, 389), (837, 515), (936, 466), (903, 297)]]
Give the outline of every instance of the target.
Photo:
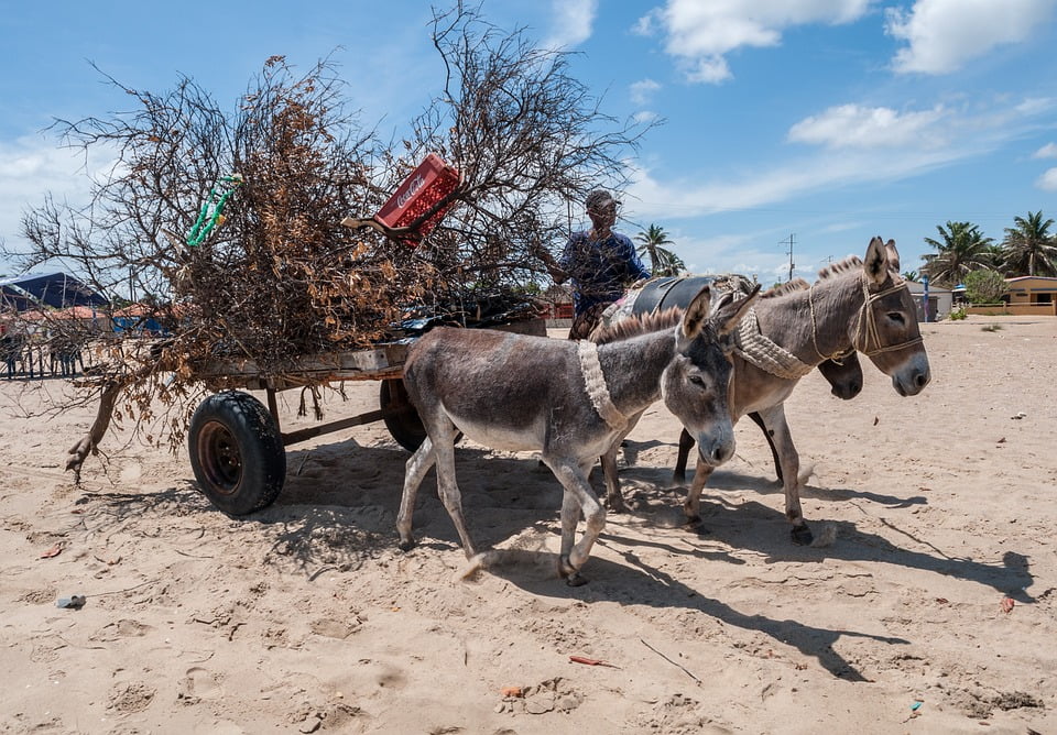
[(675, 329), (675, 356), (661, 376), (664, 405), (697, 440), (701, 460), (718, 467), (734, 453), (728, 397), (733, 363), (732, 331), (760, 293), (731, 295), (711, 305), (708, 286), (694, 297)]

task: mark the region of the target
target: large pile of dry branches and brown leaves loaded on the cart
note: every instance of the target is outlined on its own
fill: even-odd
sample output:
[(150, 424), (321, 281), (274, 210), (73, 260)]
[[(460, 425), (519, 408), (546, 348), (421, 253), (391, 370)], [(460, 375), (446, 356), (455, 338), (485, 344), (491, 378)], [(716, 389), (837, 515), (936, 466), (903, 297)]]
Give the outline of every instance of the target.
[[(30, 250), (7, 254), (23, 270), (73, 266), (115, 306), (126, 295), (146, 304), (167, 334), (146, 350), (131, 331), (96, 339), (86, 384), (102, 406), (69, 469), (98, 447), (119, 394), (137, 427), (156, 418), (160, 401), (175, 449), (206, 390), (200, 371), (218, 358), (281, 376), (306, 355), (399, 336), (410, 316), (472, 326), (534, 308), (532, 253), (567, 238), (569, 202), (599, 183), (621, 185), (620, 162), (645, 129), (602, 114), (565, 53), (500, 32), (461, 3), (436, 13), (432, 37), (442, 91), (399, 151), (348, 112), (330, 62), (297, 76), (280, 56), (233, 112), (187, 78), (155, 95), (108, 77), (134, 111), (56, 123), (86, 161), (103, 152), (113, 164), (94, 178), (86, 208), (48, 197), (29, 212)], [(369, 218), (429, 152), (461, 180), (416, 246), (382, 227), (341, 226)]]

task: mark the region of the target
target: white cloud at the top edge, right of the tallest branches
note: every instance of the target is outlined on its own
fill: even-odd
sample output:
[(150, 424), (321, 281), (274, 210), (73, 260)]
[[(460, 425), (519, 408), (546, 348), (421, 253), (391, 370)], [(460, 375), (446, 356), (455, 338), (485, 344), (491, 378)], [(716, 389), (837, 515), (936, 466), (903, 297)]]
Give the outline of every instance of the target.
[(690, 81), (730, 78), (724, 57), (743, 46), (775, 46), (782, 31), (809, 23), (849, 23), (861, 18), (870, 0), (668, 0), (640, 19), (636, 29), (650, 33), (661, 25), (665, 51), (679, 59)]

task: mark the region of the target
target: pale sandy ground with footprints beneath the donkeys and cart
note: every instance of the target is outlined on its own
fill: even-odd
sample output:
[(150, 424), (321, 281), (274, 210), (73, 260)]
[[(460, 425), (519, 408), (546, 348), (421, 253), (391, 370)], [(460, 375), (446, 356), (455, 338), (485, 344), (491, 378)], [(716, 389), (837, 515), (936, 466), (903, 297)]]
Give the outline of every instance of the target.
[[(382, 424), (292, 447), (277, 502), (236, 519), (185, 451), (120, 434), (75, 486), (90, 412), (23, 417), (62, 381), (0, 381), (0, 731), (1057, 733), (1057, 320), (924, 332), (922, 395), (864, 361), (853, 402), (813, 373), (787, 404), (832, 546), (792, 545), (748, 420), (707, 533), (680, 527), (657, 405), (624, 452), (633, 511), (575, 589), (532, 454), (458, 451), (471, 528), (508, 550), (461, 580), (432, 475), (396, 548), (407, 454)], [(328, 419), (377, 408), (378, 383), (347, 387)], [(310, 425), (284, 398), (284, 429)]]

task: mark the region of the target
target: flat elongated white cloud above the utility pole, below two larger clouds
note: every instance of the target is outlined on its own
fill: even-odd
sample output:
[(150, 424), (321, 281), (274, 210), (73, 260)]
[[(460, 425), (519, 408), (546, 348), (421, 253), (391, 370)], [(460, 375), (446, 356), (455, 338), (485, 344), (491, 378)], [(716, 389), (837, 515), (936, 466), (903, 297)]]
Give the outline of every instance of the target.
[(886, 107), (841, 105), (805, 118), (788, 140), (830, 149), (935, 147), (944, 142), (942, 108), (900, 114)]

